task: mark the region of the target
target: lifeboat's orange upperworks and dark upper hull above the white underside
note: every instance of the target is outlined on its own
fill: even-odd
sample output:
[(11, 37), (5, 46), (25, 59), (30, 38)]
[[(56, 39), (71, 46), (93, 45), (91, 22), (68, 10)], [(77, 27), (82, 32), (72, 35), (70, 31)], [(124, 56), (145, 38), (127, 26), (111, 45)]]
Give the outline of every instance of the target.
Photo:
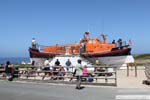
[(121, 39), (117, 43), (107, 43), (105, 34), (101, 35), (102, 40), (90, 38), (89, 34), (89, 32), (85, 32), (80, 42), (75, 44), (56, 44), (42, 48), (38, 45), (32, 45), (29, 48), (30, 58), (53, 58), (57, 55), (80, 55), (90, 58), (130, 55), (130, 45), (125, 44)]

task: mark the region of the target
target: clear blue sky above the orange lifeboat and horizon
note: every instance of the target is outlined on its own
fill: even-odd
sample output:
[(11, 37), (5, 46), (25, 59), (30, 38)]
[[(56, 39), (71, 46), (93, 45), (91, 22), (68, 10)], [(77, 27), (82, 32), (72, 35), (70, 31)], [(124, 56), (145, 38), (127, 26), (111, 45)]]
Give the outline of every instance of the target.
[(85, 31), (132, 40), (132, 54), (150, 53), (150, 0), (0, 0), (0, 57), (28, 57), (41, 45), (78, 42)]

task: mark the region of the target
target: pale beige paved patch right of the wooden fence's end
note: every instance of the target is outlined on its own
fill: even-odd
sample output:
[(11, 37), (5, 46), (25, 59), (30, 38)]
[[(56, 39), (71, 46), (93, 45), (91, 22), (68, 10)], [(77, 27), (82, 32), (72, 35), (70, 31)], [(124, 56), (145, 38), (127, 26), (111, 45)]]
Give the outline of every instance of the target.
[(150, 85), (142, 84), (143, 80), (146, 80), (144, 69), (137, 70), (137, 77), (135, 77), (135, 70), (129, 71), (129, 76), (127, 77), (126, 70), (117, 71), (117, 87), (118, 88), (149, 88)]

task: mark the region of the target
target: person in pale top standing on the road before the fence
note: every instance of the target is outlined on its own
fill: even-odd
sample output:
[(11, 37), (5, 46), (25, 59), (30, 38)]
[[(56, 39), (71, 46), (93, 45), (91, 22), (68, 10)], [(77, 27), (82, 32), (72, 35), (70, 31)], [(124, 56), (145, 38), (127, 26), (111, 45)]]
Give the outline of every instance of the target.
[(75, 76), (77, 77), (76, 89), (81, 89), (81, 78), (83, 75), (81, 60), (77, 60), (77, 65), (75, 66)]

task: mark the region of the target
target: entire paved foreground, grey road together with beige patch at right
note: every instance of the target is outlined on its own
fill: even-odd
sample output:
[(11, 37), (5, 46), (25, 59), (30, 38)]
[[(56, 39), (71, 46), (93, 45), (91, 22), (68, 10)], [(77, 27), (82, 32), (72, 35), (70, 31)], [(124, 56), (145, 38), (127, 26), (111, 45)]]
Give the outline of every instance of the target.
[(117, 71), (117, 87), (89, 86), (76, 90), (71, 84), (35, 83), (0, 80), (0, 100), (150, 100), (150, 85), (142, 84), (144, 70)]

